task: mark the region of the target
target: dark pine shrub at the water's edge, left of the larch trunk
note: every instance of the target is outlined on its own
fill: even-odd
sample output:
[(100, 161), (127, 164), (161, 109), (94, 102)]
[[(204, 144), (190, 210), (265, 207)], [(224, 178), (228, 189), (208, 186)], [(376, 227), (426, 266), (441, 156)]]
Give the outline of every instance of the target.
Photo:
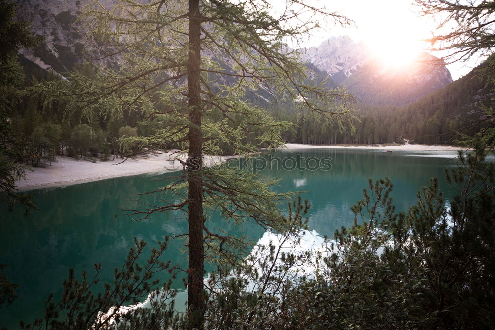
[[(22, 329), (169, 329), (177, 322), (174, 314), (176, 291), (171, 289), (171, 280), (161, 282), (157, 273), (174, 268), (170, 262), (160, 260), (167, 248), (168, 238), (158, 242), (149, 258), (141, 263), (146, 243), (134, 238), (127, 259), (120, 269), (115, 269), (113, 283), (99, 285), (101, 265), (95, 265), (95, 274), (86, 272), (79, 281), (74, 270), (63, 282), (61, 298), (50, 295), (45, 303), (45, 316), (32, 324), (21, 322)], [(156, 291), (154, 291), (156, 290)], [(96, 291), (96, 292), (95, 292)], [(98, 293), (97, 293), (98, 292)], [(139, 307), (144, 298), (148, 307)], [(133, 305), (133, 306), (131, 306)], [(133, 307), (133, 308), (131, 308)]]

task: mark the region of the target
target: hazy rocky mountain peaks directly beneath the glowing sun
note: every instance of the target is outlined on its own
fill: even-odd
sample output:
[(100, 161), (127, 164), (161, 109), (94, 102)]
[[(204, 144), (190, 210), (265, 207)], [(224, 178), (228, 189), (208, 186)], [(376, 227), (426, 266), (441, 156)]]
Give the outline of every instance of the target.
[(435, 56), (421, 53), (409, 66), (386, 67), (365, 44), (347, 36), (331, 37), (301, 53), (366, 104), (407, 104), (452, 82), (445, 63)]

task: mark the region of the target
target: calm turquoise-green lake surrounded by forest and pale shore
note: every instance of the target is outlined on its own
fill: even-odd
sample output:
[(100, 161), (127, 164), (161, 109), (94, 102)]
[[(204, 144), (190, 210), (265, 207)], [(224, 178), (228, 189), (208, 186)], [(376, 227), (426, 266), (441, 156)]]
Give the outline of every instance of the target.
[[(429, 184), (430, 177), (439, 178), (446, 203), (455, 195), (444, 178), (445, 168), (457, 164), (455, 152), (301, 149), (276, 151), (261, 157), (265, 165), (271, 162), (274, 166), (259, 166), (258, 172), (280, 179), (272, 189), (305, 191), (302, 197), (312, 205), (309, 227), (321, 236), (332, 236), (335, 229), (352, 225), (350, 207), (362, 198), (368, 178), (388, 176), (392, 180), (392, 197), (398, 211), (415, 204), (416, 192)], [(331, 166), (312, 170), (323, 157)], [(305, 170), (292, 168), (291, 159), (304, 159), (309, 166)], [(279, 163), (284, 164), (283, 169)], [(3, 208), (0, 263), (10, 265), (6, 274), (20, 287), (19, 298), (0, 309), (0, 327), (17, 329), (21, 319), (31, 322), (42, 317), (43, 302), (49, 293), (61, 292), (61, 283), (70, 267), (76, 275), (83, 270), (92, 274), (93, 265), (100, 262), (102, 280), (107, 282), (113, 269), (124, 262), (134, 236), (145, 239), (152, 247), (153, 242), (163, 240), (164, 236), (184, 233), (187, 220), (180, 212), (155, 214), (141, 221), (120, 214), (121, 207), (134, 207), (133, 195), (164, 186), (167, 176), (138, 175), (34, 190), (35, 204), (40, 210), (27, 218), (22, 216), (22, 210), (5, 213)], [(157, 202), (156, 197), (145, 198)], [(246, 235), (254, 241), (264, 233), (254, 224), (229, 228), (216, 220), (213, 227)], [(181, 250), (182, 241), (172, 240), (164, 260), (185, 266)], [(183, 287), (182, 281), (178, 279), (174, 286)]]

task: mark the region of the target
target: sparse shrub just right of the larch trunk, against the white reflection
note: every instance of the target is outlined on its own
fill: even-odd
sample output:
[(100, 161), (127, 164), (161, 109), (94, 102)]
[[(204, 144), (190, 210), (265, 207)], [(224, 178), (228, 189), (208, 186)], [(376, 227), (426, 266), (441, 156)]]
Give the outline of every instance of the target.
[[(208, 279), (210, 293), (206, 310), (207, 329), (283, 328), (276, 316), (279, 297), (294, 285), (311, 263), (307, 251), (292, 251), (307, 224), (309, 204), (299, 198), (288, 204), (282, 216), (286, 229), (270, 234), (267, 244), (258, 244), (228, 273), (213, 273)], [(265, 234), (266, 235), (266, 234)]]

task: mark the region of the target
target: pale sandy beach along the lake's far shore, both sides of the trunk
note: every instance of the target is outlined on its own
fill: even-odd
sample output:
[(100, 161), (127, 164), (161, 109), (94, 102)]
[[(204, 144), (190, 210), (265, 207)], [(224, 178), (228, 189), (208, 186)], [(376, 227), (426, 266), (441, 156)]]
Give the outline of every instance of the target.
[[(442, 145), (420, 145), (404, 144), (394, 146), (344, 146), (344, 145), (305, 145), (287, 143), (285, 148), (289, 150), (297, 149), (376, 149), (376, 150), (409, 150), (409, 151), (456, 151), (462, 150), (460, 147)], [(160, 154), (149, 154), (139, 156), (136, 159), (129, 158), (125, 162), (116, 158), (109, 161), (90, 161), (74, 159), (65, 156), (58, 156), (56, 162), (51, 166), (36, 167), (32, 171), (26, 172), (26, 178), (16, 182), (17, 188), (30, 190), (50, 186), (66, 186), (88, 181), (96, 181), (114, 177), (136, 175), (143, 173), (164, 173), (182, 169), (182, 165), (174, 158), (186, 159), (186, 155), (173, 153), (173, 151)], [(207, 165), (218, 164), (232, 156), (205, 156)], [(121, 164), (119, 164), (121, 163)], [(117, 165), (118, 164), (118, 165)]]

